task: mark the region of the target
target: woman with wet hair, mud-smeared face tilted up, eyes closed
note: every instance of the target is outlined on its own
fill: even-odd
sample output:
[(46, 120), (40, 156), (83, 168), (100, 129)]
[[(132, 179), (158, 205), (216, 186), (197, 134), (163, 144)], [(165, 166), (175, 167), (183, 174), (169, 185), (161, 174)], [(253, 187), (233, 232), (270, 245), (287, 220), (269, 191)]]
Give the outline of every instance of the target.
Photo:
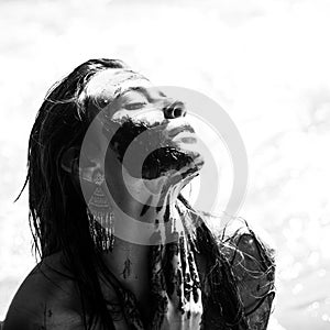
[[(52, 88), (25, 183), (41, 262), (4, 330), (266, 329), (273, 252), (243, 221), (211, 231), (180, 194), (204, 163), (185, 114), (121, 61), (88, 61)], [(125, 218), (129, 239), (116, 234)]]

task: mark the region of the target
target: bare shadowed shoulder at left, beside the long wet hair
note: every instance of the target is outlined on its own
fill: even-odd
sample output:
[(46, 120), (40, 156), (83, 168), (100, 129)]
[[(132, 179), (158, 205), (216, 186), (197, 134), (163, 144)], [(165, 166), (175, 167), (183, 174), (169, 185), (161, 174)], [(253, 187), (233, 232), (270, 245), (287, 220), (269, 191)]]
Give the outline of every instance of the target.
[(59, 261), (61, 253), (53, 254), (31, 271), (11, 301), (3, 330), (82, 329), (75, 280)]

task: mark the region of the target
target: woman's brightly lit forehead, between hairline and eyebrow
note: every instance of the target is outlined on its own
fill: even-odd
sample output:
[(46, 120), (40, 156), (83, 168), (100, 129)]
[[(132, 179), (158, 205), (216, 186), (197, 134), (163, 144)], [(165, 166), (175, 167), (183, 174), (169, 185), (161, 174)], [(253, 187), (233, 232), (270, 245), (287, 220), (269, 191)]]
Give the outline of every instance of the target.
[(144, 76), (129, 69), (106, 69), (96, 74), (87, 85), (86, 94), (92, 98), (113, 100), (130, 87), (151, 88)]

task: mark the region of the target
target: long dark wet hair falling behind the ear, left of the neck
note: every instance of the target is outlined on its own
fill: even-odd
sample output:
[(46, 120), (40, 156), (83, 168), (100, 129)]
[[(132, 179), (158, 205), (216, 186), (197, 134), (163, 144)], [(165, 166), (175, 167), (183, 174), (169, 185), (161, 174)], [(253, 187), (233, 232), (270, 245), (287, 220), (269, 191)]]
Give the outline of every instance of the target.
[[(102, 298), (97, 270), (110, 277), (114, 289), (118, 286), (105, 270), (89, 234), (86, 202), (62, 169), (61, 161), (69, 147), (81, 146), (90, 123), (87, 100), (81, 97), (85, 87), (97, 73), (116, 68), (127, 68), (127, 65), (118, 59), (90, 59), (51, 88), (31, 131), (24, 184), (25, 187), (29, 183), (29, 219), (35, 253), (43, 260), (62, 251), (78, 283), (82, 311), (88, 304), (90, 324), (100, 317), (106, 329), (114, 327)], [(87, 328), (85, 311), (84, 322)]]

